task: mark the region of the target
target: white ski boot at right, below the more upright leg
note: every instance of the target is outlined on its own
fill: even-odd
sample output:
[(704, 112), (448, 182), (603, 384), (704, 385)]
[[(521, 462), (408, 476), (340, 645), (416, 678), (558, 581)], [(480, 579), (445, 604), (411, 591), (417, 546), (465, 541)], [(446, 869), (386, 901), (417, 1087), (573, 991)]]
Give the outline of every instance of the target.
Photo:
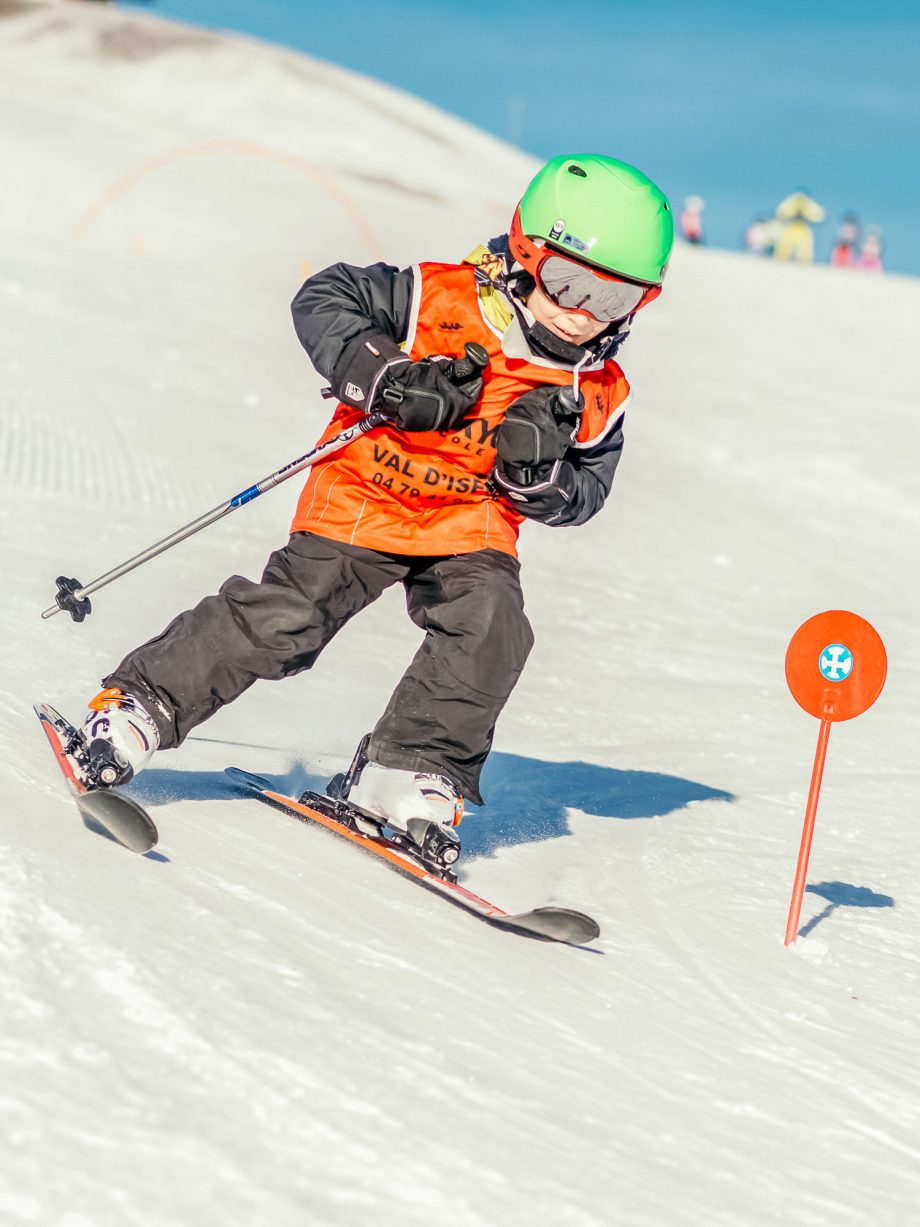
[[(395, 832), (400, 844), (438, 874), (454, 876), (460, 838), (454, 827), (464, 814), (464, 800), (444, 775), (384, 767), (367, 757), (364, 736), (347, 772), (328, 787), (334, 800), (345, 801), (358, 829), (381, 826)], [(364, 833), (372, 833), (366, 831)]]

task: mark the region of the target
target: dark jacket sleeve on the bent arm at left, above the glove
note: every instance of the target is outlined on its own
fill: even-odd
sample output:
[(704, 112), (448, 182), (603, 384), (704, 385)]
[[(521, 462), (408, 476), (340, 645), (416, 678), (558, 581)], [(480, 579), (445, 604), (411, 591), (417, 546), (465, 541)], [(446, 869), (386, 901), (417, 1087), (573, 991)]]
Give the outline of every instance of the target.
[(405, 341), (412, 309), (411, 269), (334, 264), (309, 277), (291, 303), (294, 331), (316, 371), (332, 378), (346, 346), (363, 333)]

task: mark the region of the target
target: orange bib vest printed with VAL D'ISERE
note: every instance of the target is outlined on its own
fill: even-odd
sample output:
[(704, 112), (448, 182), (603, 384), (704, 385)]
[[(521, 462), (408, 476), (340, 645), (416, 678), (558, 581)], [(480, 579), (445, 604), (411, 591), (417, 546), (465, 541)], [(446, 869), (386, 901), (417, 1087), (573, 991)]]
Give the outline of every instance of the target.
[[(572, 372), (502, 352), (500, 333), (485, 318), (470, 264), (415, 269), (412, 323), (404, 348), (413, 360), (461, 357), (467, 341), (489, 355), (482, 396), (453, 431), (381, 426), (310, 469), (292, 533), (347, 541), (383, 553), (453, 555), (500, 550), (516, 556), (524, 519), (492, 492), (496, 431), (508, 406), (531, 388), (570, 385)], [(596, 444), (622, 417), (629, 385), (616, 362), (584, 372), (581, 425), (573, 447)], [(364, 413), (339, 405), (320, 443)]]

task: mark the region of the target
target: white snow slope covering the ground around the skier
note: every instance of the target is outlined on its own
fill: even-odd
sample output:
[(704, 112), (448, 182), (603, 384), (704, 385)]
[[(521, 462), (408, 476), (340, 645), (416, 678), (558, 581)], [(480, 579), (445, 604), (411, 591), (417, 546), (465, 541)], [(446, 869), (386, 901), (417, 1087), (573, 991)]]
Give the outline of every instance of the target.
[[(39, 618), (313, 443), (303, 275), (462, 255), (530, 161), (301, 55), (6, 2), (0, 166), (0, 1221), (920, 1222), (918, 282), (680, 250), (611, 504), (525, 534), (537, 647), (464, 881), (592, 913), (578, 951), (229, 794), (341, 768), (415, 650), (399, 593), (161, 756), (146, 858), (29, 713), (285, 540), (297, 481)], [(830, 737), (786, 950), (817, 724), (783, 658), (834, 607), (889, 679)]]

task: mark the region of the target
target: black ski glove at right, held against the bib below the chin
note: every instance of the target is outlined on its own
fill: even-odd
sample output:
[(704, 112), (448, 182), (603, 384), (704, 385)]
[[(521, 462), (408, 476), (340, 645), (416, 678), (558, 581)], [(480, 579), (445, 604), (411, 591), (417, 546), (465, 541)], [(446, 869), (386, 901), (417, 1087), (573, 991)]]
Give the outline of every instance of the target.
[(508, 409), (498, 428), (496, 476), (499, 486), (547, 481), (578, 434), (584, 396), (570, 388), (532, 388)]

